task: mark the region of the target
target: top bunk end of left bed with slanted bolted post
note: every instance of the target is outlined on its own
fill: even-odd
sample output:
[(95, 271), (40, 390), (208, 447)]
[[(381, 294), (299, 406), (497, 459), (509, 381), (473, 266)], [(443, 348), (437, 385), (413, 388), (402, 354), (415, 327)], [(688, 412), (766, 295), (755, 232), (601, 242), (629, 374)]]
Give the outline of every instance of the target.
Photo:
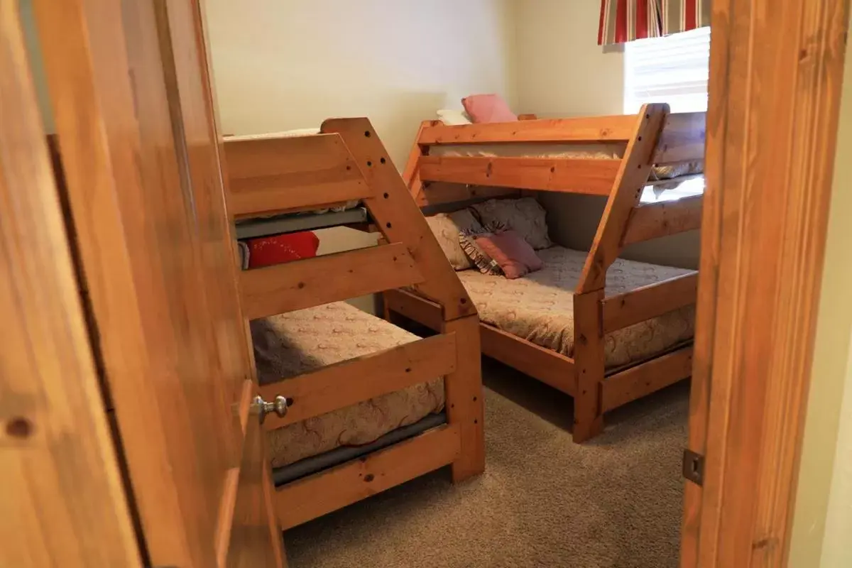
[(369, 120), (331, 118), (319, 131), (226, 137), (223, 146), (237, 238), (351, 226), (354, 213), (383, 237), (365, 248), (242, 271), (246, 318), (406, 286), (439, 303), (445, 321), (475, 316)]

